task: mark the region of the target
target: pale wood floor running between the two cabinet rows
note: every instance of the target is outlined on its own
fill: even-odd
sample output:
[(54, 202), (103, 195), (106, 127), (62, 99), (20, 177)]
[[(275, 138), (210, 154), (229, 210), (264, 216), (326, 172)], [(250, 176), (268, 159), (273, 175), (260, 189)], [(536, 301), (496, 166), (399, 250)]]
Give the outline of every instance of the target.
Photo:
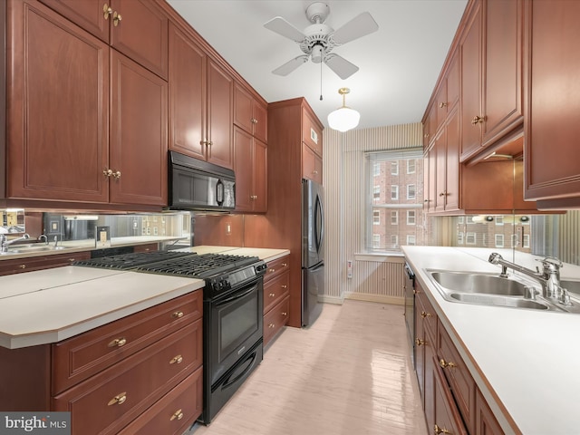
[(278, 336), (208, 427), (188, 433), (427, 434), (403, 307), (324, 304), (311, 327)]

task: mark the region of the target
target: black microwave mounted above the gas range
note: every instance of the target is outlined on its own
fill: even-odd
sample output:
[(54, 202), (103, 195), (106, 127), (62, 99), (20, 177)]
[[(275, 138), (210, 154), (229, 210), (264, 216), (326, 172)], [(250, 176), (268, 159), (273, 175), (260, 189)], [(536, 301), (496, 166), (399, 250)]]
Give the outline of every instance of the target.
[(169, 151), (169, 209), (230, 211), (236, 208), (232, 169)]

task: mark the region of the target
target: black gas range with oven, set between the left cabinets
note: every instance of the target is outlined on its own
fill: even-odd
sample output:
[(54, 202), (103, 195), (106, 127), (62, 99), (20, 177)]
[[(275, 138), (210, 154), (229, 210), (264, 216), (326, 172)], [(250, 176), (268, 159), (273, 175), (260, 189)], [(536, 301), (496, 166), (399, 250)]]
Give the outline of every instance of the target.
[(91, 258), (74, 266), (205, 281), (200, 422), (211, 422), (262, 361), (266, 263), (257, 256), (154, 251)]

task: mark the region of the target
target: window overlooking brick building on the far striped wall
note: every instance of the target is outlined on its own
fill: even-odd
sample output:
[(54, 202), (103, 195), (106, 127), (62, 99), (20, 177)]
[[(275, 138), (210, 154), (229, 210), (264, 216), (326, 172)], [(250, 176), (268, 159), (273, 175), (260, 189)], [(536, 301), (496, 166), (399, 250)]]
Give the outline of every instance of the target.
[(405, 243), (427, 245), (430, 223), (423, 214), (422, 148), (368, 152), (365, 158), (364, 248), (389, 251)]

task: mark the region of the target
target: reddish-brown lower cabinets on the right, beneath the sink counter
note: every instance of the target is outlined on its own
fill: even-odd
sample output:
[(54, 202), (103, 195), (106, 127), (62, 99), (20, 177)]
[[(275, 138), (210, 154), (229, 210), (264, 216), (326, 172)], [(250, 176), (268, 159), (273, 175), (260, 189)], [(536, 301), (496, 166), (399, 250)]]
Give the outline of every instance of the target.
[(415, 372), (429, 433), (504, 434), (419, 283)]

